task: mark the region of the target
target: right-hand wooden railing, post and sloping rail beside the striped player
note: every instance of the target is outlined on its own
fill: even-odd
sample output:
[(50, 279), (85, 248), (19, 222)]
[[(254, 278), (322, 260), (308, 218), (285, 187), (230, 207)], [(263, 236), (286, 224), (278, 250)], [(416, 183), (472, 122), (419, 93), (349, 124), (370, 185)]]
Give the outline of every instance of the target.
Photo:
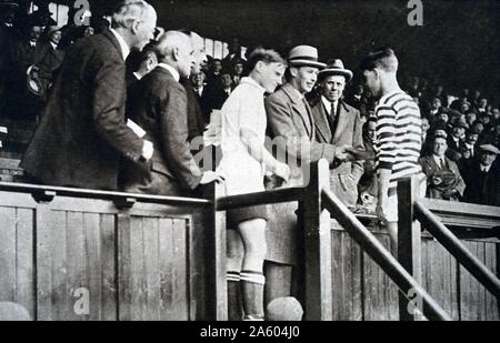
[[(419, 199), (416, 196), (417, 190), (414, 178), (401, 180), (398, 184), (399, 211), (402, 214), (398, 233), (400, 242), (398, 255), (401, 263), (413, 276), (421, 280), (422, 225), (499, 302), (500, 280), (498, 275), (481, 262), (460, 239), (498, 239), (500, 236), (500, 209)], [(498, 241), (496, 245), (498, 274)], [(403, 300), (400, 296), (401, 301)], [(402, 313), (401, 316), (406, 320), (413, 319)]]

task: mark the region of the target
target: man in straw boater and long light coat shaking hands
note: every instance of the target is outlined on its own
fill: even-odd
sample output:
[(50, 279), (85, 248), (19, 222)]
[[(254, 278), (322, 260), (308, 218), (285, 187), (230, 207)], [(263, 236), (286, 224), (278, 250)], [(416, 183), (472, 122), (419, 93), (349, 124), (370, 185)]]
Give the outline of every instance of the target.
[[(293, 48), (289, 54), (286, 83), (266, 99), (268, 131), (277, 148), (277, 159), (290, 167), (287, 186), (309, 182), (311, 162), (327, 159), (330, 164), (343, 160), (340, 147), (318, 142), (311, 108), (304, 99), (326, 67), (318, 61), (318, 50), (310, 46)], [(266, 301), (291, 295), (292, 272), (297, 259), (297, 203), (269, 206), (266, 264)]]

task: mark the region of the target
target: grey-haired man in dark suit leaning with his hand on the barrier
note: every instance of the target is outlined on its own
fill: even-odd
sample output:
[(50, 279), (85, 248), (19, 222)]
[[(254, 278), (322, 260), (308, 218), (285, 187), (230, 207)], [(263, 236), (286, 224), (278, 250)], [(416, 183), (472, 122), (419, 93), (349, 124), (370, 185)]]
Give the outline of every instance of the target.
[(200, 184), (219, 180), (211, 171), (203, 173), (190, 151), (188, 99), (179, 81), (189, 77), (194, 51), (179, 31), (166, 32), (157, 49), (160, 63), (139, 81), (127, 109), (157, 149), (149, 169), (127, 163), (120, 179), (127, 192), (194, 195)]

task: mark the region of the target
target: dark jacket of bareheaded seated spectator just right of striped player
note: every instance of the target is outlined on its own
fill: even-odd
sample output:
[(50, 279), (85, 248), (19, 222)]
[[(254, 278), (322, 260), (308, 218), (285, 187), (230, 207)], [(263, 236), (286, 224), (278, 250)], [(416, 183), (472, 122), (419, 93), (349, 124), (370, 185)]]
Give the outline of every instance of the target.
[[(459, 168), (457, 163), (454, 163), (452, 160), (444, 157), (446, 164), (448, 169), (454, 174), (456, 176), (456, 183), (453, 189), (458, 191), (460, 196), (452, 196), (451, 201), (459, 201), (461, 196), (463, 196), (463, 192), (466, 190), (466, 182), (463, 181), (462, 175), (460, 174)], [(437, 171), (440, 170), (439, 165), (436, 163), (436, 160), (433, 158), (433, 154), (421, 158), (419, 160), (420, 165), (422, 165), (422, 171), (427, 176), (427, 196), (431, 199), (443, 199), (442, 198), (442, 191), (439, 191), (437, 188), (434, 188), (434, 184), (432, 182), (432, 176)]]

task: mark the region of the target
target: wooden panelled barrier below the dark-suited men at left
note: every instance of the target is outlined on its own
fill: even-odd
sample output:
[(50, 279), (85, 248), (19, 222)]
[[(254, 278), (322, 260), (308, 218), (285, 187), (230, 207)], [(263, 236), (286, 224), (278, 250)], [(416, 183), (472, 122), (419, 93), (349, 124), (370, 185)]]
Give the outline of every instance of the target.
[(216, 320), (219, 235), (204, 199), (0, 183), (0, 301), (33, 320)]

